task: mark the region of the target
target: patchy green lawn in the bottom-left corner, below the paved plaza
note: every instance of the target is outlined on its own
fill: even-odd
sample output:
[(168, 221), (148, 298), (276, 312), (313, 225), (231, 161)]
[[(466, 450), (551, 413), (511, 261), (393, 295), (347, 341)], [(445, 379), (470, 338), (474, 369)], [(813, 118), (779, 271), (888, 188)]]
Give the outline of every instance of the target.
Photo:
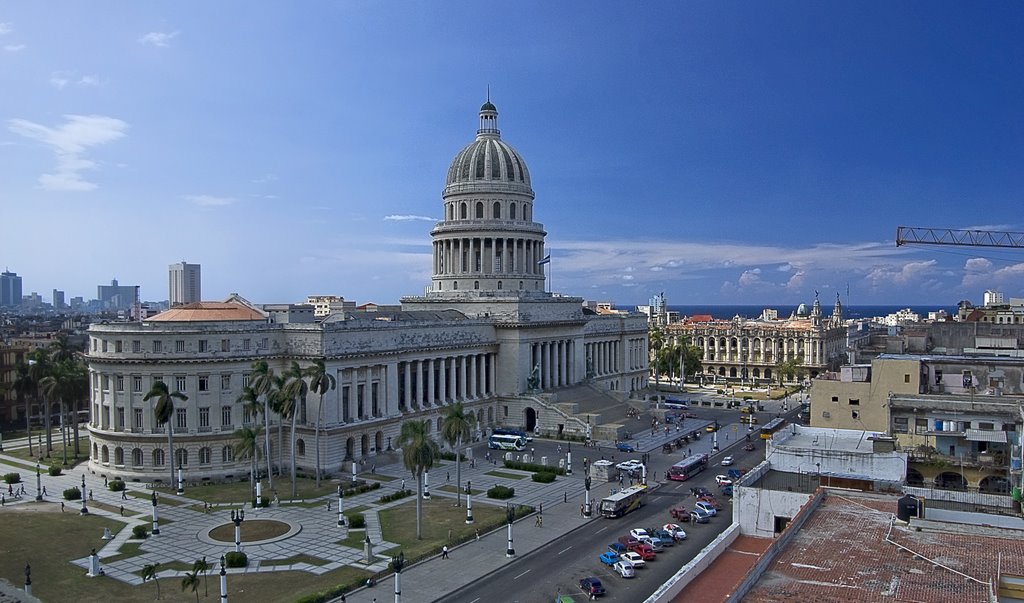
[[(74, 600), (83, 603), (109, 603), (110, 601), (153, 601), (157, 586), (150, 583), (132, 587), (110, 577), (85, 577), (85, 569), (72, 565), (72, 559), (86, 557), (93, 548), (99, 549), (105, 541), (99, 536), (110, 520), (88, 515), (61, 514), (52, 505), (18, 505), (0, 510), (0, 577), (18, 587), (25, 583), (25, 565), (32, 565), (33, 594), (43, 601), (67, 601), (72, 593)], [(243, 524), (245, 525), (245, 524)], [(233, 526), (232, 526), (233, 528)], [(53, 546), (40, 546), (53, 543)], [(137, 545), (126, 545), (127, 551), (137, 552)], [(127, 555), (126, 555), (127, 556)], [(191, 569), (183, 562), (161, 564), (165, 567)], [(141, 570), (139, 564), (139, 570)], [(215, 572), (211, 571), (211, 599), (219, 595)], [(262, 574), (230, 575), (227, 579), (228, 597), (232, 601), (260, 601), (289, 603), (308, 594), (329, 589), (339, 584), (356, 584), (366, 580), (370, 572), (345, 567), (323, 575), (304, 571), (281, 571)], [(200, 591), (203, 590), (200, 586)], [(190, 592), (181, 591), (180, 578), (160, 580), (162, 600), (195, 601)]]

